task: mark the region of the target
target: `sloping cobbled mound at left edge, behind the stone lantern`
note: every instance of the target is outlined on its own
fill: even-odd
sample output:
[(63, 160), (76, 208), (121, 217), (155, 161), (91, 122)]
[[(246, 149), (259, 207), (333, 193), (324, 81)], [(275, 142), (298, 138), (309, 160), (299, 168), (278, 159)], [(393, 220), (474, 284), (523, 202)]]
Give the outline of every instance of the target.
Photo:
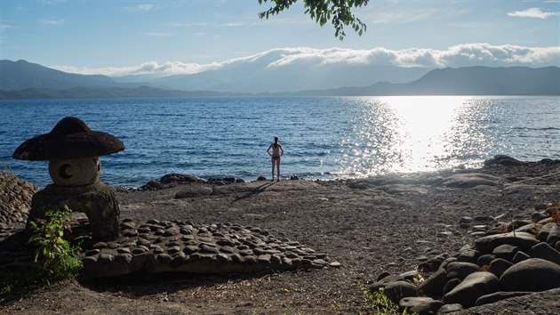
[(31, 198), (38, 190), (34, 184), (0, 171), (0, 227), (8, 228), (9, 223), (25, 222)]

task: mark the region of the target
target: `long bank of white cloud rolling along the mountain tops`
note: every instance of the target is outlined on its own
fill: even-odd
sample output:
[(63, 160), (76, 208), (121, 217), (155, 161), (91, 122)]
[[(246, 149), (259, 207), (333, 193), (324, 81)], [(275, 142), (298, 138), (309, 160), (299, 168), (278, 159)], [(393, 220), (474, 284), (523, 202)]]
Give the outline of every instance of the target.
[(314, 49), (308, 47), (277, 48), (251, 56), (230, 59), (209, 64), (166, 61), (142, 63), (136, 67), (109, 67), (103, 69), (76, 68), (71, 66), (54, 67), (67, 72), (82, 74), (104, 74), (125, 76), (152, 74), (159, 77), (176, 74), (194, 74), (228, 65), (262, 63), (263, 68), (307, 67), (322, 69), (344, 65), (397, 66), (421, 68), (459, 68), (469, 66), (532, 68), (560, 67), (560, 47), (524, 47), (511, 44), (458, 44), (444, 50), (430, 48), (410, 48), (390, 50), (382, 47), (370, 50), (342, 48)]

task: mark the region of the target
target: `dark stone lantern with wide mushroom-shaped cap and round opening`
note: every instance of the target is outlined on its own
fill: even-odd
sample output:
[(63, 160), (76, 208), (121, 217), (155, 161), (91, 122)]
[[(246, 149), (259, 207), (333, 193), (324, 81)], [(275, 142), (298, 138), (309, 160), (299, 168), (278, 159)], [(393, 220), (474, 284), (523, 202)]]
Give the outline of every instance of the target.
[(123, 149), (123, 141), (109, 133), (92, 131), (76, 117), (65, 117), (50, 133), (21, 143), (12, 157), (48, 160), (53, 182), (33, 196), (28, 222), (44, 218), (47, 211), (68, 205), (73, 211), (87, 215), (93, 238), (117, 238), (119, 208), (116, 193), (100, 182), (100, 156)]

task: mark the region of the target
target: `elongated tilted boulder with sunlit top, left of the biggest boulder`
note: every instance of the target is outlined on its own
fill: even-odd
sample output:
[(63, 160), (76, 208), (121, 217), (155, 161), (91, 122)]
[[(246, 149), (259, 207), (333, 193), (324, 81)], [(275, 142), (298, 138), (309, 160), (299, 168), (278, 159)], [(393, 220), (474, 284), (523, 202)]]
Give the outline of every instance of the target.
[(471, 273), (459, 286), (444, 295), (444, 303), (460, 303), (468, 308), (474, 306), (479, 297), (494, 293), (499, 287), (500, 280), (494, 274), (486, 271)]

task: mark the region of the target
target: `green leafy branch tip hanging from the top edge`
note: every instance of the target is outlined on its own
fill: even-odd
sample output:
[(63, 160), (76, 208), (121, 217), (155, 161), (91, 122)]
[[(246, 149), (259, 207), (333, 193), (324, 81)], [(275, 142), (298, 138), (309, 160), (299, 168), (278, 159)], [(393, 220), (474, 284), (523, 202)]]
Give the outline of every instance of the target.
[[(298, 0), (259, 0), (259, 4), (271, 3), (270, 7), (265, 12), (260, 12), (260, 19), (267, 19), (270, 15), (276, 15), (284, 10), (290, 8)], [(339, 37), (340, 40), (344, 39), (344, 27), (349, 26), (353, 28), (359, 36), (366, 29), (366, 25), (352, 13), (352, 8), (361, 7), (366, 5), (369, 0), (303, 0), (305, 13), (309, 17), (324, 26), (327, 21), (331, 21), (334, 28), (334, 36)]]

